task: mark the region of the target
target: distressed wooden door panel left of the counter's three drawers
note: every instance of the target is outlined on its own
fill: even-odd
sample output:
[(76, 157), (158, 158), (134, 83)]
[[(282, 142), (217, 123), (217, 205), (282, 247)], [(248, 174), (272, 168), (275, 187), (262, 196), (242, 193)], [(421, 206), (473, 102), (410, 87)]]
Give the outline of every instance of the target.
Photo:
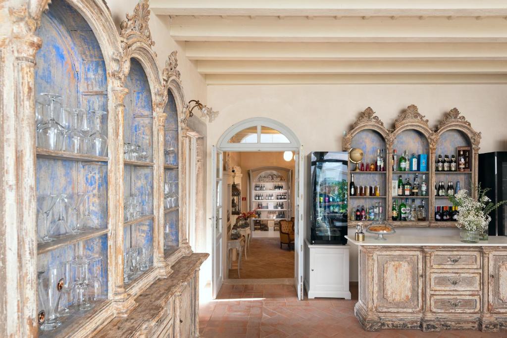
[(374, 254), (374, 307), (379, 312), (420, 312), (422, 309), (422, 252)]

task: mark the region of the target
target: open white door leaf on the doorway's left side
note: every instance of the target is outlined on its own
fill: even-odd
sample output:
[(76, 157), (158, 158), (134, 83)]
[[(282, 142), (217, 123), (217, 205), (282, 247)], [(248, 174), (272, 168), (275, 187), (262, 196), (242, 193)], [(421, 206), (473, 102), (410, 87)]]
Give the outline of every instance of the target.
[(223, 276), (223, 255), (222, 255), (222, 216), (224, 212), (223, 208), (223, 153), (218, 151), (213, 145), (211, 151), (211, 181), (212, 185), (212, 198), (211, 198), (211, 226), (213, 227), (213, 281), (212, 291), (213, 298), (216, 298), (220, 288), (222, 287)]

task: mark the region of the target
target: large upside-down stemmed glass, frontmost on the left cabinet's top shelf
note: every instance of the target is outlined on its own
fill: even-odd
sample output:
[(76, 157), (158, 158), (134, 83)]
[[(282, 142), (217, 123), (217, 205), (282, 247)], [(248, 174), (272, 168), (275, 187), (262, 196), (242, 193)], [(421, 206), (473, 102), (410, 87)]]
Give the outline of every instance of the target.
[(55, 120), (61, 109), (60, 99), (61, 96), (51, 93), (42, 93), (50, 102), (49, 120), (40, 124), (37, 127), (37, 144), (40, 146), (53, 150), (60, 151), (63, 145), (63, 132), (65, 128)]

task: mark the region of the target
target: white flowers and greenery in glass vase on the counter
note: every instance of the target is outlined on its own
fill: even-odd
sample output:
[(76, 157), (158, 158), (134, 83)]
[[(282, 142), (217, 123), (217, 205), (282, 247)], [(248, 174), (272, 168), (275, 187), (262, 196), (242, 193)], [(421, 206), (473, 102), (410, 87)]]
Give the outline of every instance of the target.
[(458, 207), (457, 224), (461, 230), (461, 242), (478, 243), (479, 240), (488, 239), (488, 225), (491, 221), (489, 214), (500, 205), (507, 203), (501, 201), (492, 203), (486, 193), (491, 189), (482, 189), (481, 184), (475, 187), (477, 199), (468, 196), (466, 190), (460, 190), (456, 195), (449, 196), (454, 206)]

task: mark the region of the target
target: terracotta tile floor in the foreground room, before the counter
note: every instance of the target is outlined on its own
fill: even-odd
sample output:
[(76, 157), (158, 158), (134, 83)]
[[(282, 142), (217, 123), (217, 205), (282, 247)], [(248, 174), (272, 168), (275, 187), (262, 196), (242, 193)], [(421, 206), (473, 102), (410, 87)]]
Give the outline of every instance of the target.
[(298, 301), (293, 285), (224, 284), (219, 297), (201, 304), (202, 337), (506, 337), (507, 332), (422, 332), (419, 330), (364, 331), (354, 317), (357, 287), (352, 300), (316, 298)]

